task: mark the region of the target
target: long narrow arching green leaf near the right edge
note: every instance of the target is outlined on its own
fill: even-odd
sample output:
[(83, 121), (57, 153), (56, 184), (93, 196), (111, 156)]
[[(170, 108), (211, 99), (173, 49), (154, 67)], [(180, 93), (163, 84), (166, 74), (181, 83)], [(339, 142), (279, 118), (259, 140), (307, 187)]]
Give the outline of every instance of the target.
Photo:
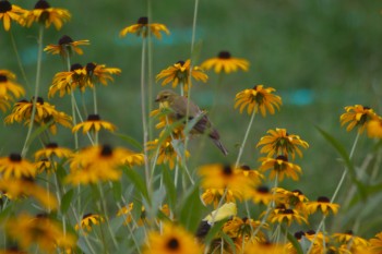
[(361, 195), (361, 198), (366, 199), (367, 193), (366, 193), (365, 184), (357, 179), (356, 169), (355, 169), (354, 164), (351, 162), (350, 157), (349, 157), (348, 153), (346, 152), (345, 147), (337, 140), (335, 140), (331, 134), (329, 134), (327, 132), (325, 132), (324, 130), (322, 130), (319, 126), (315, 126), (315, 128), (319, 130), (321, 135), (323, 137), (325, 137), (325, 140), (337, 150), (341, 158), (345, 162), (345, 168), (346, 168), (347, 172), (349, 173), (351, 181), (357, 185), (359, 194)]

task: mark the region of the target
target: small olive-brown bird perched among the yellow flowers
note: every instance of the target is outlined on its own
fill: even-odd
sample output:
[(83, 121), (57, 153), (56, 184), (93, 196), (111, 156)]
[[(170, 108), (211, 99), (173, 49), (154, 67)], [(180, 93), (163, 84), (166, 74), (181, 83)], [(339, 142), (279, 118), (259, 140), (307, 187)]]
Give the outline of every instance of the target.
[[(198, 118), (203, 114), (202, 110), (191, 100), (183, 96), (176, 94), (172, 90), (166, 89), (159, 92), (155, 101), (160, 102), (162, 107), (168, 108), (172, 112), (169, 113), (169, 117), (174, 120), (181, 120), (187, 116), (187, 106), (189, 105), (189, 120)], [(212, 123), (206, 114), (203, 114), (201, 119), (193, 125), (192, 130), (196, 133), (203, 134), (207, 133), (214, 144), (222, 150), (224, 155), (227, 155), (227, 149), (220, 143), (220, 135), (216, 129), (212, 126)]]

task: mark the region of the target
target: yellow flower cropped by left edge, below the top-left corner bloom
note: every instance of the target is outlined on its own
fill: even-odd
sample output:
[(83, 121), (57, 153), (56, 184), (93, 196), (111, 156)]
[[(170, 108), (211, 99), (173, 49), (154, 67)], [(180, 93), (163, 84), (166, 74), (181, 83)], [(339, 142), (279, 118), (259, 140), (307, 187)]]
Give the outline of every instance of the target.
[[(0, 4), (2, 1), (0, 1)], [(19, 98), (25, 94), (24, 88), (16, 82), (16, 75), (8, 70), (0, 70), (0, 97), (14, 96)]]

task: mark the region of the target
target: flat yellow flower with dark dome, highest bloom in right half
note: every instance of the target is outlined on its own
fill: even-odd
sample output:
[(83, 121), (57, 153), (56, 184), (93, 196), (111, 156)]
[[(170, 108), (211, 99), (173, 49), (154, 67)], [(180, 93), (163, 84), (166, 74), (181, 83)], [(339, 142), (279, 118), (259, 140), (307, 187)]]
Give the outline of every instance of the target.
[(220, 51), (217, 58), (205, 60), (201, 68), (210, 70), (214, 68), (216, 73), (224, 71), (225, 73), (236, 72), (238, 69), (248, 71), (249, 62), (244, 59), (232, 58), (228, 51)]

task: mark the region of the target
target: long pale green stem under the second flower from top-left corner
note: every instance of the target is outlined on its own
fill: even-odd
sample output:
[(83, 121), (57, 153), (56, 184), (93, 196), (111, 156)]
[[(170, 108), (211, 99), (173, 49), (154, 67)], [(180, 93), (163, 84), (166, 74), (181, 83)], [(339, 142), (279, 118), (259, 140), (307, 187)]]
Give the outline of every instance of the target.
[(37, 104), (38, 90), (39, 90), (39, 85), (40, 85), (40, 75), (41, 75), (43, 39), (44, 39), (44, 25), (40, 25), (39, 31), (38, 31), (38, 39), (37, 39), (38, 52), (37, 52), (35, 94), (34, 94), (34, 98), (33, 98), (33, 107), (32, 107), (29, 128), (28, 128), (28, 132), (26, 134), (23, 150), (21, 153), (22, 157), (24, 157), (28, 150), (28, 146), (29, 146), (29, 142), (31, 142), (29, 140), (31, 140), (32, 130), (33, 130), (35, 116), (36, 116), (36, 104)]

